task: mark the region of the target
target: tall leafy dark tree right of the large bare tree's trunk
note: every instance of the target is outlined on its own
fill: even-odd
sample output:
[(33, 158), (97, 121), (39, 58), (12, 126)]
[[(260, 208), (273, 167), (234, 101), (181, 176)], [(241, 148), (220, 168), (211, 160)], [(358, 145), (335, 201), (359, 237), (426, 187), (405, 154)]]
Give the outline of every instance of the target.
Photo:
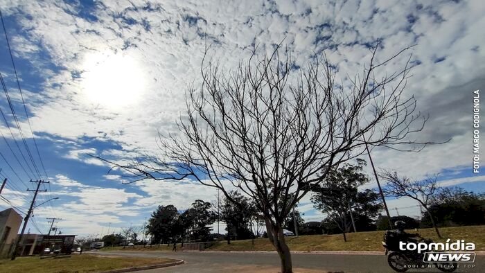
[[(315, 186), (314, 194), (311, 197), (312, 203), (316, 209), (326, 213), (327, 218), (324, 220), (326, 231), (340, 229), (346, 242), (346, 233), (350, 231), (355, 224), (369, 229), (369, 224), (373, 221), (380, 211), (378, 195), (370, 190), (364, 192), (358, 191), (358, 186), (369, 182), (369, 178), (362, 170), (366, 165), (362, 159), (357, 159), (357, 164), (344, 164), (340, 168), (329, 170), (326, 179), (321, 186)], [(352, 222), (353, 221), (353, 222)]]

